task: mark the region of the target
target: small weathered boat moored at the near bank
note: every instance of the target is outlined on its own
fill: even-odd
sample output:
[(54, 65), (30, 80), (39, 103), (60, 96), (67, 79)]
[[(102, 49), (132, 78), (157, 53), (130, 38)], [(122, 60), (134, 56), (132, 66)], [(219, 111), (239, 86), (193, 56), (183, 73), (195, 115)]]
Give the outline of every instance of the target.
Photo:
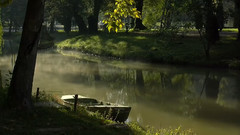
[[(63, 105), (73, 106), (75, 95), (63, 95), (61, 100), (63, 101)], [(104, 103), (94, 98), (84, 97), (81, 95), (78, 95), (77, 105), (86, 107), (88, 111), (99, 112), (103, 116), (107, 116), (107, 118), (119, 122), (126, 121), (131, 111), (130, 106)]]

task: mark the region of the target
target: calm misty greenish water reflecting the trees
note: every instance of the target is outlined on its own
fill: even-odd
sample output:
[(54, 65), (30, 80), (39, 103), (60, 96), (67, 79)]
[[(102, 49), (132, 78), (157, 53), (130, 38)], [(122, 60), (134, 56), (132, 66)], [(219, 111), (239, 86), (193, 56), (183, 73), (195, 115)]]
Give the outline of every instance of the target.
[[(150, 65), (65, 51), (39, 52), (34, 90), (81, 94), (132, 107), (128, 121), (193, 129), (200, 135), (240, 135), (238, 71)], [(0, 57), (3, 77), (12, 69)]]

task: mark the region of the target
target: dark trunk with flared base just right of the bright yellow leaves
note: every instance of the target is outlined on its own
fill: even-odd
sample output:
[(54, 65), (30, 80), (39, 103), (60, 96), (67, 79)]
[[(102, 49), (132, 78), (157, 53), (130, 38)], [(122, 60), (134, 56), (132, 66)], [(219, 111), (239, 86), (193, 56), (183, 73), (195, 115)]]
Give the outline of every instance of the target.
[[(136, 0), (136, 8), (137, 8), (138, 11), (141, 12), (141, 15), (142, 15), (143, 0)], [(147, 28), (142, 24), (142, 20), (140, 18), (137, 18), (136, 19), (136, 25), (135, 25), (134, 29), (145, 30)]]

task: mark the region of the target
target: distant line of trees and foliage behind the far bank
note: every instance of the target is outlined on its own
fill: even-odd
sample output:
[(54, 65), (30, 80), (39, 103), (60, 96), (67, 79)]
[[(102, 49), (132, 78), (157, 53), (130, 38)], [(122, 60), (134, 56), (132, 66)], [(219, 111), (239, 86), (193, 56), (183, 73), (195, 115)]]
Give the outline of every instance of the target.
[[(135, 0), (135, 2), (134, 6), (142, 13), (142, 19), (130, 18), (135, 22), (132, 27), (137, 30), (154, 28), (163, 31), (189, 27), (190, 24), (194, 24), (197, 29), (203, 27), (207, 29), (208, 24), (215, 23), (216, 28), (221, 31), (229, 17), (234, 18), (234, 27), (239, 28), (239, 0)], [(49, 24), (50, 32), (55, 30), (55, 22), (59, 22), (64, 25), (64, 31), (67, 33), (71, 31), (73, 24), (78, 27), (79, 33), (96, 33), (98, 22), (103, 19), (106, 11), (115, 8), (114, 3), (115, 0), (46, 0), (44, 20)], [(14, 0), (10, 6), (3, 8), (2, 23), (3, 26), (8, 26), (9, 33), (18, 31), (22, 26), (26, 4), (27, 0)]]

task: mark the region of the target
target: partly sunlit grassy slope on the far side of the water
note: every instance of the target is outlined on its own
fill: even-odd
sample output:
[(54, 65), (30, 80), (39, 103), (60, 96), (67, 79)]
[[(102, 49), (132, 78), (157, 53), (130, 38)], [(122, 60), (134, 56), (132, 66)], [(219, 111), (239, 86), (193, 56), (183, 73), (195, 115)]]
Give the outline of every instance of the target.
[[(226, 29), (225, 31), (229, 31)], [(231, 30), (232, 31), (232, 30)], [(197, 36), (166, 39), (147, 33), (55, 33), (56, 47), (74, 49), (94, 55), (154, 63), (189, 64), (207, 67), (240, 67), (240, 43), (225, 35), (212, 46), (211, 59), (206, 60), (203, 45)]]

